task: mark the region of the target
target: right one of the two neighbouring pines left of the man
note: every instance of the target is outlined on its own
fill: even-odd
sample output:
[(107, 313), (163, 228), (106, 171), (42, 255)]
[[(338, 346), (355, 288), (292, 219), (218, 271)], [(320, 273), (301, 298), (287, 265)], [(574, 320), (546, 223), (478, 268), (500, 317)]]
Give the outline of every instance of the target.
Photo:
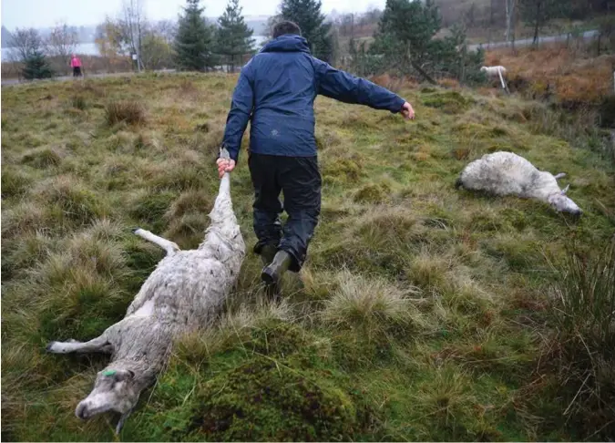
[(252, 30), (243, 21), (239, 0), (229, 0), (224, 14), (218, 18), (220, 27), (216, 32), (217, 51), (228, 58), (231, 72), (236, 64), (241, 64), (241, 57), (249, 54), (254, 46)]

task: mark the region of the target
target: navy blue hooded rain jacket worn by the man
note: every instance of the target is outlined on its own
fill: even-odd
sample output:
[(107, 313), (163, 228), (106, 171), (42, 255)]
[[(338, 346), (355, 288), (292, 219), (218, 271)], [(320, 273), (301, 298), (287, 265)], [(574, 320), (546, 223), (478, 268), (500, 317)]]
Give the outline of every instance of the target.
[(399, 112), (405, 103), (388, 89), (312, 57), (302, 36), (273, 39), (241, 69), (224, 130), (224, 146), (237, 160), (251, 119), (250, 150), (288, 157), (316, 155), (316, 95)]

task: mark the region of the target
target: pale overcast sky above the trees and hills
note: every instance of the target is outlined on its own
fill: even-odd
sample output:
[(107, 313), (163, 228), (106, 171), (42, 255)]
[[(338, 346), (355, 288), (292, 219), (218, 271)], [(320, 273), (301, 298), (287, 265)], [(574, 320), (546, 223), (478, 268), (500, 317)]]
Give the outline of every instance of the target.
[[(185, 0), (141, 0), (149, 19), (159, 20), (177, 17)], [(363, 12), (370, 6), (384, 7), (385, 0), (322, 0), (323, 12), (333, 9), (339, 13)], [(118, 13), (122, 0), (2, 0), (2, 25), (15, 27), (53, 26), (58, 21), (68, 25), (96, 25), (105, 15)], [(275, 14), (280, 0), (241, 0), (244, 15)], [(203, 0), (205, 14), (218, 16), (224, 10), (226, 0)]]

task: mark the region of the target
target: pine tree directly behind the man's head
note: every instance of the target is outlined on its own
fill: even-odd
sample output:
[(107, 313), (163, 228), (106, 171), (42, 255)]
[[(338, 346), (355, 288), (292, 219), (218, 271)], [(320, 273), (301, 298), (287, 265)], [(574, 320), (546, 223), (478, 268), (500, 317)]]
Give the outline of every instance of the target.
[(325, 23), (320, 0), (282, 0), (282, 19), (290, 20), (302, 30), (314, 57), (326, 62), (333, 59), (331, 24)]

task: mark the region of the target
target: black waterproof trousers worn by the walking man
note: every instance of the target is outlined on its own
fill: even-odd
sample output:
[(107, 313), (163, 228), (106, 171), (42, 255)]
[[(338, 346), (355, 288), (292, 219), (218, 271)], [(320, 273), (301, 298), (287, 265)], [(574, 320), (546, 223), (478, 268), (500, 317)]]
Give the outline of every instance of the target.
[[(283, 157), (251, 153), (254, 186), (254, 252), (271, 244), (292, 255), (290, 271), (298, 273), (321, 212), (322, 179), (317, 157)], [(280, 192), (283, 194), (283, 206)], [(280, 214), (288, 220), (282, 227)]]

